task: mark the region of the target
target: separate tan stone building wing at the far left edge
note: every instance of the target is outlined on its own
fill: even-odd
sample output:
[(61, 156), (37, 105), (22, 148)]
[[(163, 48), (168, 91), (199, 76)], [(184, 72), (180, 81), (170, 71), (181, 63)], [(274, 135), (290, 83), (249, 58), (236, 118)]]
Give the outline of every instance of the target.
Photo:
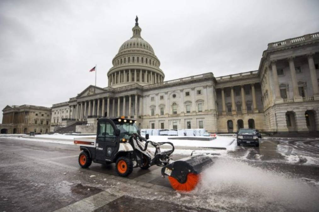
[(51, 124), (51, 108), (7, 105), (3, 110), (1, 134), (48, 133)]

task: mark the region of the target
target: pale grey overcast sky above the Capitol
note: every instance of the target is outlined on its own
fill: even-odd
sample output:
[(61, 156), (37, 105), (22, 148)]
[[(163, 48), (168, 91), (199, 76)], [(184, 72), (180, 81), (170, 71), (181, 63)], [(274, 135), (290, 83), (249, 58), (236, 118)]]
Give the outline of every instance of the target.
[[(319, 31), (319, 1), (0, 1), (0, 108), (51, 107), (107, 71), (132, 36), (161, 62), (165, 81), (257, 70), (267, 44)], [(0, 122), (2, 121), (2, 112)]]

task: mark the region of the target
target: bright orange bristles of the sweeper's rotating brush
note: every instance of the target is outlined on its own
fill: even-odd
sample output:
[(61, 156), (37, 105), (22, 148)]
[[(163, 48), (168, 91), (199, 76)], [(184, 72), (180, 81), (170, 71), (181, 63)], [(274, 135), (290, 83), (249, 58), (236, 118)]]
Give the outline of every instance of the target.
[(199, 175), (194, 173), (188, 173), (187, 180), (185, 183), (180, 183), (174, 177), (171, 176), (168, 176), (168, 180), (171, 186), (177, 191), (191, 191), (196, 187), (199, 181)]

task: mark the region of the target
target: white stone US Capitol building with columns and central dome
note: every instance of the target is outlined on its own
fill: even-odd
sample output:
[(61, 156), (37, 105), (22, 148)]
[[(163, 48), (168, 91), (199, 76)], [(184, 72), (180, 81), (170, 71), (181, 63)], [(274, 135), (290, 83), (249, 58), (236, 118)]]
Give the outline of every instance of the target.
[(53, 104), (50, 131), (78, 123), (76, 131), (92, 133), (104, 116), (135, 118), (140, 129), (318, 131), (319, 32), (269, 43), (255, 71), (165, 81), (138, 19), (132, 31), (112, 60), (108, 87), (90, 85)]

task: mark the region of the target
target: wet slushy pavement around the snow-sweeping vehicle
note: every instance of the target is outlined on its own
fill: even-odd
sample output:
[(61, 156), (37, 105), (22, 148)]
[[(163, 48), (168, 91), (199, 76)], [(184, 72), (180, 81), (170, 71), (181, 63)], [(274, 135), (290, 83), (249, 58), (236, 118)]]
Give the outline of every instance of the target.
[[(214, 152), (214, 150), (211, 150)], [(220, 152), (220, 150), (218, 150)], [(215, 156), (191, 193), (160, 167), (118, 177), (114, 164), (78, 165), (78, 146), (0, 138), (3, 211), (315, 211), (319, 139), (263, 138)], [(173, 159), (185, 156), (175, 155)], [(95, 176), (92, 176), (95, 175)]]

